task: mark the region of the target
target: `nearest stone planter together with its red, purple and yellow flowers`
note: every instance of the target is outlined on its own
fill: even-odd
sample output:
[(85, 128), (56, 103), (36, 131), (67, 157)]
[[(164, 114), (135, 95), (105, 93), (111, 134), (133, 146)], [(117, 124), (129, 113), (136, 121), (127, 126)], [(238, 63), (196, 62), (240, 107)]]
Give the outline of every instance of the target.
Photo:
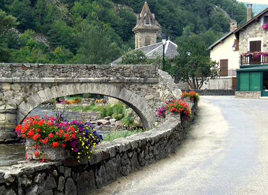
[(25, 158), (30, 160), (56, 161), (75, 157), (80, 162), (89, 158), (103, 140), (90, 123), (61, 121), (47, 116), (26, 118), (15, 132), (26, 140)]

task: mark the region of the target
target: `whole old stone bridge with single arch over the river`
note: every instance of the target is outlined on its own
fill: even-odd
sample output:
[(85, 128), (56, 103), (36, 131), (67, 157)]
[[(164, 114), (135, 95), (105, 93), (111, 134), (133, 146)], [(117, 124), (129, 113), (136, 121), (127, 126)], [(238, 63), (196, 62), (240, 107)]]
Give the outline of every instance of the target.
[(181, 90), (153, 65), (0, 63), (0, 142), (16, 140), (16, 125), (42, 102), (75, 94), (119, 99), (151, 128), (157, 108)]

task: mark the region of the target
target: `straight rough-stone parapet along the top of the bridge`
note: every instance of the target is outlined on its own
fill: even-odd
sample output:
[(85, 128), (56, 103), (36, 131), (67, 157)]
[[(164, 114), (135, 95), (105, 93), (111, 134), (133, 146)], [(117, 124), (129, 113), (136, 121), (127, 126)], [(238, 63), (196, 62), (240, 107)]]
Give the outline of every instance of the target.
[[(0, 63), (0, 78), (156, 78), (153, 65)], [(64, 80), (64, 79), (63, 79)], [(14, 80), (11, 80), (14, 82)], [(52, 82), (51, 80), (50, 82)], [(105, 81), (105, 80), (104, 80)], [(1, 82), (1, 80), (0, 80)]]

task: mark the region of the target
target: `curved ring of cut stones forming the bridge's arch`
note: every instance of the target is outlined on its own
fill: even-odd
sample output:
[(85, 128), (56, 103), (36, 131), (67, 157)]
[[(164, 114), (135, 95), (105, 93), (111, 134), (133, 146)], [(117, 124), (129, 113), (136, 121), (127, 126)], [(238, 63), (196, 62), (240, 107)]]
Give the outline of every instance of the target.
[(119, 99), (134, 110), (140, 117), (144, 128), (153, 127), (154, 111), (144, 98), (118, 84), (107, 83), (69, 83), (41, 90), (19, 105), (18, 124), (42, 102), (75, 94), (100, 94)]

